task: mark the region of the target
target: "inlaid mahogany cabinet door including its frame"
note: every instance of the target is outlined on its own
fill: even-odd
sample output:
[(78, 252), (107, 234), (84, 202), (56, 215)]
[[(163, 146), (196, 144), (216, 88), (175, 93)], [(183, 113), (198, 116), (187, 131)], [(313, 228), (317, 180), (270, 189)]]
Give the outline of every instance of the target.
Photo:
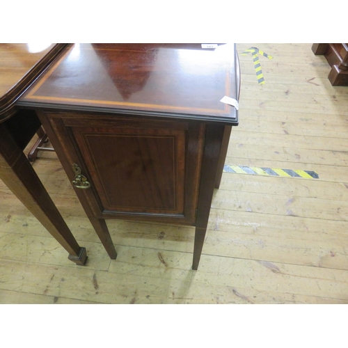
[(85, 172), (92, 186), (84, 190), (86, 203), (100, 207), (99, 217), (194, 224), (203, 125), (79, 113), (47, 116), (66, 157)]

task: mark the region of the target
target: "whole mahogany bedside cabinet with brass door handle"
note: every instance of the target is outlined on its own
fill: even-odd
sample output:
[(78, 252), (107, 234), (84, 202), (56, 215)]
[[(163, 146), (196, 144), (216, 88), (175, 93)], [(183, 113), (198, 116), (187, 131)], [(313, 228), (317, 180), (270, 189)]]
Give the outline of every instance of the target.
[(17, 102), (36, 111), (110, 258), (104, 219), (196, 226), (198, 268), (239, 98), (235, 45), (84, 44)]

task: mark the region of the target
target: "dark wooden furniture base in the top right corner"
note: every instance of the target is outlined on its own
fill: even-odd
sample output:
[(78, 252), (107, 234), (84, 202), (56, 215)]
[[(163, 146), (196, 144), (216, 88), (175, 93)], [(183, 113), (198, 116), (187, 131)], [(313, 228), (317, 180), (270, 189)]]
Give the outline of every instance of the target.
[(329, 81), (333, 86), (348, 86), (348, 44), (313, 44), (314, 54), (323, 54), (331, 66)]

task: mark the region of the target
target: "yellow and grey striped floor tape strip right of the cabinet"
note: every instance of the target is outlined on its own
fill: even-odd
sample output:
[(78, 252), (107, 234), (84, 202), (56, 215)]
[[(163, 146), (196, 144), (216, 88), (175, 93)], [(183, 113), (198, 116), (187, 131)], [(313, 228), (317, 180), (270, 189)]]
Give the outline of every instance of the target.
[(282, 177), (306, 177), (306, 179), (319, 179), (319, 175), (314, 171), (293, 171), (292, 169), (280, 168), (260, 168), (246, 166), (223, 166), (226, 173), (252, 174), (252, 175), (270, 175)]

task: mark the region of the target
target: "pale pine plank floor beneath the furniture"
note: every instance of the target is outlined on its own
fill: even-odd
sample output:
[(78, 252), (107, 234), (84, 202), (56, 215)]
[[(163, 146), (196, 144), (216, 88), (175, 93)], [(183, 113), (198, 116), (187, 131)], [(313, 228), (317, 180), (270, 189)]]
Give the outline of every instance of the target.
[[(251, 54), (258, 47), (265, 84)], [(193, 228), (107, 221), (110, 260), (55, 154), (33, 167), (88, 262), (80, 267), (0, 182), (0, 303), (348, 303), (348, 87), (311, 44), (239, 44), (240, 124), (226, 164), (319, 179), (223, 173), (198, 271)]]

